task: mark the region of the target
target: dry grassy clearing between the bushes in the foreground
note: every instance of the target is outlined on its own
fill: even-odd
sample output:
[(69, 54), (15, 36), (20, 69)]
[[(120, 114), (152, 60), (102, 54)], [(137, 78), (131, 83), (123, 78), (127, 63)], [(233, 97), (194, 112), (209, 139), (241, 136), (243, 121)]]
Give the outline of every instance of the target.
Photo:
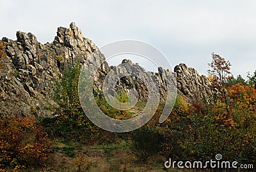
[(159, 156), (144, 163), (138, 161), (125, 141), (86, 147), (60, 140), (53, 149), (51, 161), (44, 168), (26, 171), (179, 171), (164, 169), (166, 160)]

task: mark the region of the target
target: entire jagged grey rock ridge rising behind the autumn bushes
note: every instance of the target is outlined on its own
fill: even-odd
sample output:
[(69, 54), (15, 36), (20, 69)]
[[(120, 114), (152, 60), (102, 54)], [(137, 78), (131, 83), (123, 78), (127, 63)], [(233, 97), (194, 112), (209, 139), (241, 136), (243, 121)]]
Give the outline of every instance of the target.
[[(74, 22), (70, 28), (58, 27), (57, 35), (52, 43), (38, 43), (31, 33), (17, 31), (17, 40), (3, 38), (7, 57), (1, 58), (0, 68), (0, 115), (28, 115), (36, 112), (40, 116), (51, 115), (50, 105), (52, 85), (61, 79), (61, 72), (76, 61), (86, 62), (93, 55), (91, 64), (105, 59), (99, 48), (88, 38), (84, 38), (81, 29)], [(124, 60), (123, 63), (131, 63)], [(133, 64), (134, 68), (141, 68)], [(111, 68), (104, 62), (94, 77), (93, 89), (102, 94), (102, 84)], [(140, 73), (139, 73), (140, 75)], [(159, 68), (158, 73), (151, 72), (159, 84), (161, 99), (166, 96), (166, 78), (173, 73)], [(198, 75), (193, 68), (179, 64), (174, 69), (177, 89), (189, 99), (211, 96), (211, 82), (205, 76)], [(147, 88), (136, 77), (127, 76), (116, 83), (116, 90), (136, 89), (140, 100), (147, 100)]]

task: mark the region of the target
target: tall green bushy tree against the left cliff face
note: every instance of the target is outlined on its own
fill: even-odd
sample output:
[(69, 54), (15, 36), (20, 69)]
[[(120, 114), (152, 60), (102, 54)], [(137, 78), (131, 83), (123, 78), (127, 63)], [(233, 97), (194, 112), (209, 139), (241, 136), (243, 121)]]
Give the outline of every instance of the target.
[(78, 96), (78, 82), (81, 65), (76, 62), (63, 71), (61, 80), (54, 85), (52, 99), (56, 102), (55, 117), (44, 118), (42, 125), (57, 138), (88, 142), (91, 123), (84, 114)]

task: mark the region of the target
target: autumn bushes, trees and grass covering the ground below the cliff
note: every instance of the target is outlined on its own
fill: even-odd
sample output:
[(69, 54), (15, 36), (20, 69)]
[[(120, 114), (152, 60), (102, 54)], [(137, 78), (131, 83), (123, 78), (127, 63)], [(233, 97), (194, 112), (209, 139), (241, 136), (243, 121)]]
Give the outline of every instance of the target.
[[(248, 80), (233, 78), (230, 62), (218, 54), (212, 54), (209, 66), (212, 97), (188, 103), (178, 95), (163, 123), (159, 124), (164, 107), (160, 103), (140, 129), (111, 133), (94, 125), (81, 108), (77, 62), (55, 84), (52, 117), (0, 119), (0, 171), (164, 171), (169, 158), (205, 162), (216, 154), (223, 161), (256, 166), (256, 71)], [(126, 94), (118, 96), (127, 101)], [(115, 110), (104, 98), (95, 99), (109, 117), (134, 115), (134, 109)], [(145, 103), (137, 106), (140, 110)]]

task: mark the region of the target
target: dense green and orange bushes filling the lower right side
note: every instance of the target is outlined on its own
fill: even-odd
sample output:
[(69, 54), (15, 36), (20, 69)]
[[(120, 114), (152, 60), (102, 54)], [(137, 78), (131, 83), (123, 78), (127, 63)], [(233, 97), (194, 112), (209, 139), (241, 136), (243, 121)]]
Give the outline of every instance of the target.
[(142, 160), (159, 154), (173, 161), (208, 161), (221, 154), (226, 161), (255, 164), (256, 90), (242, 83), (227, 90), (229, 118), (226, 104), (220, 100), (204, 103), (198, 111), (197, 105), (181, 105), (178, 97), (163, 124), (156, 114), (131, 135), (135, 155)]

